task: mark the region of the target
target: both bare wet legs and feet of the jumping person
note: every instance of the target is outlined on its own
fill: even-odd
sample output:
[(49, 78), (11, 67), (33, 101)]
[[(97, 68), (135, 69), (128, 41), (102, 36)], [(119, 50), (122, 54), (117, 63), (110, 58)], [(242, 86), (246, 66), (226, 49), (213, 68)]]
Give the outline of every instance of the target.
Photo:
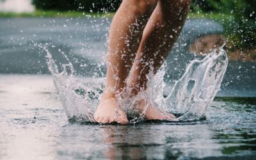
[[(109, 30), (107, 81), (96, 122), (127, 124), (127, 116), (117, 96), (129, 90), (136, 96), (147, 89), (147, 74), (156, 74), (184, 26), (189, 0), (123, 1)], [(171, 120), (175, 116), (147, 106), (136, 105), (147, 120)]]

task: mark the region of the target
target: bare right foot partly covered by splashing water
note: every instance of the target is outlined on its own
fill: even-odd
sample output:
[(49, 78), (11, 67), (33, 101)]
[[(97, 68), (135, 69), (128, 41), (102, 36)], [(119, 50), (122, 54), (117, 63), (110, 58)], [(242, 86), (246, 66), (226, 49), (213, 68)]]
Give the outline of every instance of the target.
[(140, 100), (137, 104), (137, 108), (141, 111), (141, 115), (147, 120), (172, 120), (172, 118), (176, 118), (172, 113), (167, 113), (157, 108), (157, 104), (151, 106), (145, 100)]

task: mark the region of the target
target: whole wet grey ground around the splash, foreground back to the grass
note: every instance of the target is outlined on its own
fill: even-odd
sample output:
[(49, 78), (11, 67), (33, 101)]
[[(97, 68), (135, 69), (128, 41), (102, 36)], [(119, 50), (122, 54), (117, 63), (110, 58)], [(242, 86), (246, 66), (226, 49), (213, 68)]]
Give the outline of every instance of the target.
[[(206, 120), (77, 124), (68, 122), (51, 76), (23, 74), (49, 73), (38, 44), (48, 44), (59, 63), (58, 49), (64, 51), (79, 75), (104, 71), (108, 20), (0, 19), (0, 24), (0, 159), (255, 159), (255, 62), (228, 65)], [(168, 58), (166, 81), (182, 76), (194, 58), (186, 49), (196, 36), (221, 31), (209, 20), (188, 21)]]

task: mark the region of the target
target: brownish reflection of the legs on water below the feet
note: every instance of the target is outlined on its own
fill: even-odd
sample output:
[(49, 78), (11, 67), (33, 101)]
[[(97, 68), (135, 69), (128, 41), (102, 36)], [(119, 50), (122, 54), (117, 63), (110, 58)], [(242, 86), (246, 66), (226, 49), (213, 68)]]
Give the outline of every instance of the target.
[[(154, 134), (149, 125), (137, 126), (108, 126), (104, 129), (104, 141), (111, 147), (104, 152), (109, 159), (148, 159), (152, 158), (154, 148), (163, 145)], [(158, 143), (156, 143), (158, 142)], [(151, 154), (150, 154), (151, 152)]]

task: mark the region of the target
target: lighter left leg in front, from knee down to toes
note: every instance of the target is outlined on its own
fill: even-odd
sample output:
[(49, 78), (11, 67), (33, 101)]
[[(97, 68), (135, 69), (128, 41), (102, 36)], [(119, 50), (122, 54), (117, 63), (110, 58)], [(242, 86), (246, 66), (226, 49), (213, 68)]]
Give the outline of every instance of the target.
[(143, 29), (156, 4), (157, 0), (124, 0), (118, 8), (109, 30), (107, 81), (94, 114), (96, 122), (127, 123), (124, 111), (116, 102), (116, 95), (124, 89)]

